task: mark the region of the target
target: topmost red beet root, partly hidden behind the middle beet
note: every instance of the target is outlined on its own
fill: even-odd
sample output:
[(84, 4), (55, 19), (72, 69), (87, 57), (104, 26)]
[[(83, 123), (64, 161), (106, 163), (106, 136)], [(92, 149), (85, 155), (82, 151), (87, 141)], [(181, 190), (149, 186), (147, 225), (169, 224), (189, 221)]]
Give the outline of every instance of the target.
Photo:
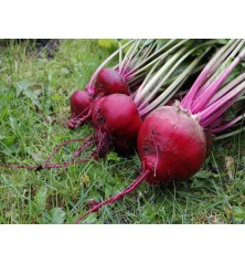
[(110, 94), (130, 95), (130, 89), (120, 74), (108, 67), (100, 70), (97, 75), (95, 83), (95, 96), (106, 96)]

